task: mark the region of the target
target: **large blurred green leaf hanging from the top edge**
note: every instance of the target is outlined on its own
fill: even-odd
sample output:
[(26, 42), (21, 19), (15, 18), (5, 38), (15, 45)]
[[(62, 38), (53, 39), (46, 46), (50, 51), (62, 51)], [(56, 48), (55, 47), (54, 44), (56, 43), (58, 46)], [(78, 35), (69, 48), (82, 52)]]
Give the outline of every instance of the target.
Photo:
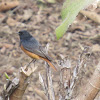
[(66, 0), (61, 11), (63, 22), (56, 28), (55, 31), (57, 39), (61, 38), (67, 31), (69, 25), (71, 25), (71, 23), (75, 20), (79, 11), (84, 9), (93, 1), (94, 0)]

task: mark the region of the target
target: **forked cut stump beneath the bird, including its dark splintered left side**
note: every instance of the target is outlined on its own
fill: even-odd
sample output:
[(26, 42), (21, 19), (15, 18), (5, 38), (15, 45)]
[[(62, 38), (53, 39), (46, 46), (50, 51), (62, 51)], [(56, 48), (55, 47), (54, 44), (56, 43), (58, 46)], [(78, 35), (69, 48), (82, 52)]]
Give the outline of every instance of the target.
[(6, 88), (1, 93), (0, 100), (22, 100), (22, 96), (29, 84), (30, 76), (36, 68), (32, 66), (21, 67), (19, 78), (8, 82)]

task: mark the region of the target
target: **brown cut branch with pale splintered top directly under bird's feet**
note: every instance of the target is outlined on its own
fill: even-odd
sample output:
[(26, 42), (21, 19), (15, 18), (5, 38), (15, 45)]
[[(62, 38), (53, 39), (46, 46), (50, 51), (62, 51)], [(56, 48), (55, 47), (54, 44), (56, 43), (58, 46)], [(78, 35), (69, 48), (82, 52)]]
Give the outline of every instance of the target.
[(19, 87), (11, 94), (10, 100), (22, 100), (22, 96), (29, 84), (29, 77), (37, 67), (28, 67), (27, 71), (26, 68), (26, 66), (21, 67), (19, 75)]

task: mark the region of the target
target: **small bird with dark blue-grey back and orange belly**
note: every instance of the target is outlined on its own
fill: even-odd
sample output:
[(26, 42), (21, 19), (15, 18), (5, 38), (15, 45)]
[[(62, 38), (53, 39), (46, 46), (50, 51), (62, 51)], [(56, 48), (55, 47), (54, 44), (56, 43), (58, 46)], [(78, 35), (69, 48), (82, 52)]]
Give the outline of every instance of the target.
[(41, 46), (27, 30), (20, 30), (17, 32), (20, 38), (20, 47), (29, 57), (35, 60), (42, 59), (46, 61), (50, 67), (57, 71), (52, 64), (52, 58), (47, 54), (46, 50)]

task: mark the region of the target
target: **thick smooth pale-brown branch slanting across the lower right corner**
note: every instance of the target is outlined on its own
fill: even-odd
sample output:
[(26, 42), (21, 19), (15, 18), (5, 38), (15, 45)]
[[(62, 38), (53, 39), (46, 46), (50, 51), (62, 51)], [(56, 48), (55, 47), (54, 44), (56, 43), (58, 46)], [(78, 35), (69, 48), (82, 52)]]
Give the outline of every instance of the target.
[(100, 62), (96, 66), (95, 72), (83, 91), (73, 100), (94, 100), (100, 91)]

